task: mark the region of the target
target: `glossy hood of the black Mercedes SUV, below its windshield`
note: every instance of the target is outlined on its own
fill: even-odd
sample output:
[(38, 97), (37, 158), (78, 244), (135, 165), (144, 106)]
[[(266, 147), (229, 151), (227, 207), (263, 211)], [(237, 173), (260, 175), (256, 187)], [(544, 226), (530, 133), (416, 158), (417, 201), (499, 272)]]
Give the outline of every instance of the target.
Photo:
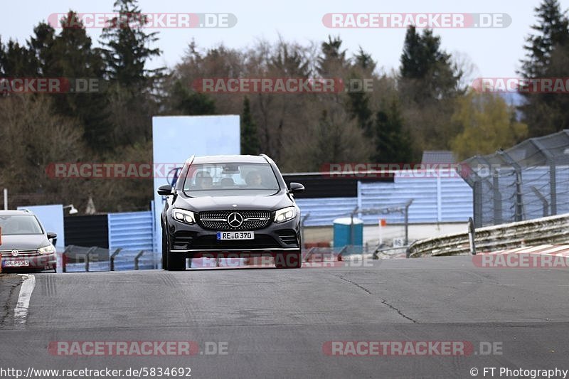
[[(237, 205), (234, 207), (233, 205)], [(202, 212), (203, 210), (277, 210), (294, 205), (285, 191), (271, 196), (178, 196), (174, 207)]]

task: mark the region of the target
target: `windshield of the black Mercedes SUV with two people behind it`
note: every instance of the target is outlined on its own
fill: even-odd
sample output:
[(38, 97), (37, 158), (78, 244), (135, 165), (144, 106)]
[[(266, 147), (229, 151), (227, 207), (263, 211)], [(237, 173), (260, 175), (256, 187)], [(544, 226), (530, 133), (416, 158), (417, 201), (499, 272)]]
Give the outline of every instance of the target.
[(279, 191), (270, 164), (195, 164), (188, 170), (184, 192), (189, 196), (251, 196)]

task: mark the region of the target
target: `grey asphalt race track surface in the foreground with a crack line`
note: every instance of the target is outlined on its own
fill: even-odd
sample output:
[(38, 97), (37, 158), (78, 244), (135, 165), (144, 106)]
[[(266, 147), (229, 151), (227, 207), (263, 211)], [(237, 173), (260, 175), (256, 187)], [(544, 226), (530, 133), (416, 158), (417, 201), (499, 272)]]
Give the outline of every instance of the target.
[[(569, 369), (566, 269), (479, 268), (466, 256), (368, 265), (36, 274), (25, 323), (13, 311), (21, 279), (4, 275), (0, 368), (188, 367), (191, 378), (472, 378), (472, 368), (491, 378), (484, 367), (499, 378), (499, 368)], [(193, 341), (199, 350), (64, 356), (48, 349), (57, 341)], [(467, 341), (474, 351), (332, 356), (329, 341)]]

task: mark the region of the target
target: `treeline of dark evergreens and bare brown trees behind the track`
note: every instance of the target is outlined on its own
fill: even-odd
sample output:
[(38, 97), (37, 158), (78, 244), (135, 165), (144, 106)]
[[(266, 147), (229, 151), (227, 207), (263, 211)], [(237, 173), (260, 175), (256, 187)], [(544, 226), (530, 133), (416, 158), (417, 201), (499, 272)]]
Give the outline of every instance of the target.
[[(288, 172), (339, 161), (420, 161), (432, 149), (452, 149), (464, 159), (565, 127), (569, 108), (561, 95), (526, 95), (516, 109), (499, 94), (474, 92), (470, 64), (447, 53), (428, 29), (408, 28), (400, 67), (392, 72), (362, 47), (344, 49), (339, 36), (243, 49), (188, 41), (174, 68), (148, 70), (149, 60), (161, 55), (158, 33), (142, 28), (137, 1), (117, 0), (114, 10), (139, 23), (115, 18), (100, 48), (73, 11), (61, 21), (73, 28), (41, 22), (26, 43), (0, 38), (0, 77), (108, 83), (97, 93), (0, 97), (0, 184), (11, 194), (30, 194), (22, 204), (40, 196), (84, 205), (92, 196), (97, 210), (147, 208), (148, 180), (53, 179), (45, 170), (51, 162), (151, 161), (153, 115), (240, 114), (243, 154), (268, 154)], [(536, 14), (521, 75), (568, 76), (565, 14), (555, 0), (543, 1)], [(365, 81), (372, 90), (202, 93), (192, 85), (202, 78), (341, 78)]]

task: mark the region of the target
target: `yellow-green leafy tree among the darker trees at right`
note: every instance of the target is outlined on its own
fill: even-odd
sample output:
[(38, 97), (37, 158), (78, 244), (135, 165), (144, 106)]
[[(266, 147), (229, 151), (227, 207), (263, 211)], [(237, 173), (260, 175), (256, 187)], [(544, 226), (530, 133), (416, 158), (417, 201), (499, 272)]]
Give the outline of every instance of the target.
[(452, 115), (452, 122), (462, 129), (450, 144), (454, 154), (466, 159), (521, 142), (528, 127), (516, 120), (515, 111), (499, 94), (470, 90), (458, 100)]

